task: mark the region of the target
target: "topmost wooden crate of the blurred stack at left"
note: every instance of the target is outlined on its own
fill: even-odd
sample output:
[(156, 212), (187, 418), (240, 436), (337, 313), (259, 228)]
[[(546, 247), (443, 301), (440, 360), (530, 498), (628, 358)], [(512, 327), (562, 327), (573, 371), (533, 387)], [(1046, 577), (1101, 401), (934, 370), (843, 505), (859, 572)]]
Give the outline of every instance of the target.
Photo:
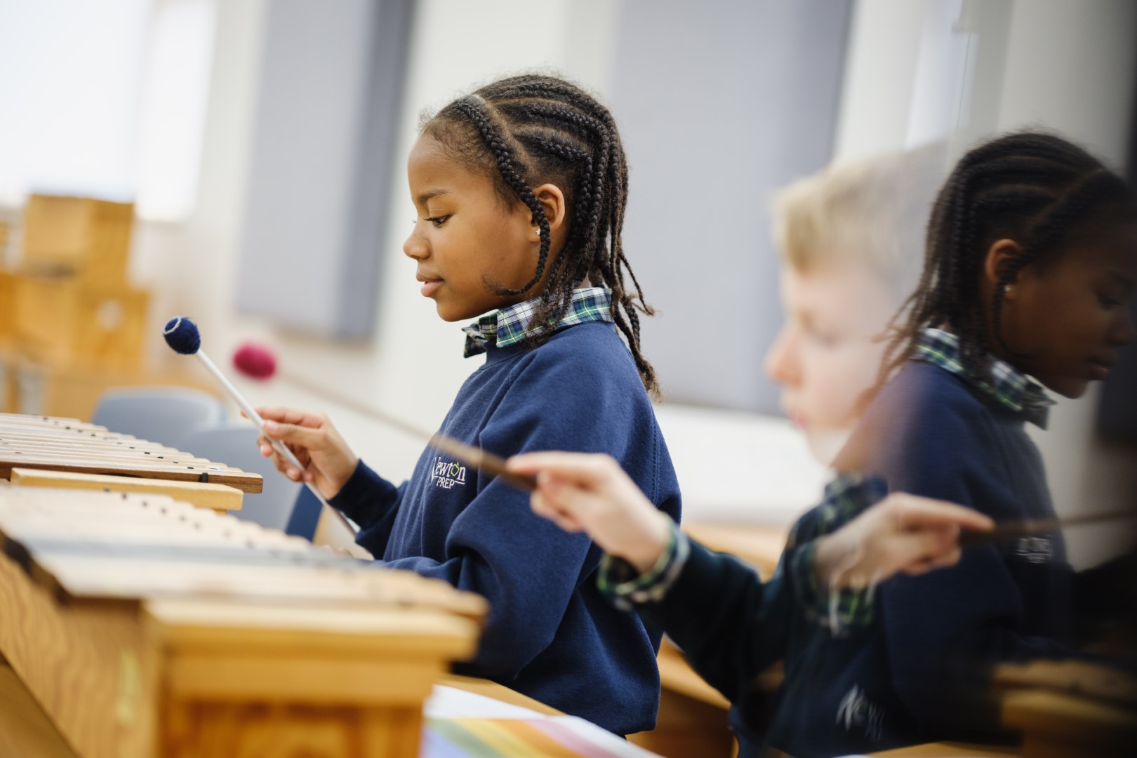
[(33, 194), (24, 211), (24, 264), (123, 284), (133, 224), (134, 203)]

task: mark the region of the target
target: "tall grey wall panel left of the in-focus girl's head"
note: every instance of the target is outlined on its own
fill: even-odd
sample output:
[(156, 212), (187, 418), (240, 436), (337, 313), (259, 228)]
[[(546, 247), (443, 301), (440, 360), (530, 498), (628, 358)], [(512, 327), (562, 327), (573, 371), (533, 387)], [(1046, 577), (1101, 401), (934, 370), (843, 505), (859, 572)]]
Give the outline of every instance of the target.
[(358, 338), (374, 325), (412, 0), (269, 0), (238, 307)]

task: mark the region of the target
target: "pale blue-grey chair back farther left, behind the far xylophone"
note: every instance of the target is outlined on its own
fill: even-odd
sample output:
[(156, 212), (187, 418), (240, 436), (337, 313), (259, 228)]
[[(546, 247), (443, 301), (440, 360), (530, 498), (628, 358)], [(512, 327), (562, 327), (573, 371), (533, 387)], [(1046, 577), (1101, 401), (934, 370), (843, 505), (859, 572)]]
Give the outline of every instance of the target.
[(105, 392), (92, 420), (111, 432), (181, 448), (189, 432), (223, 424), (225, 407), (200, 390), (131, 388)]

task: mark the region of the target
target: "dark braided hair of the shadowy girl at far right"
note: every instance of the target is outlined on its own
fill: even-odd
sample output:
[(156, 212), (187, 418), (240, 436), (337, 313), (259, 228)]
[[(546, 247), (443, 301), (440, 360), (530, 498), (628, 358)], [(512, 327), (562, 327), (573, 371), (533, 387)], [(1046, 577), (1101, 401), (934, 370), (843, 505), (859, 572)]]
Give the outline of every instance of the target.
[[(964, 372), (990, 381), (993, 345), (985, 306), (991, 333), (1009, 350), (1002, 335), (1005, 285), (1024, 267), (1057, 256), (1063, 243), (1103, 219), (1135, 216), (1132, 189), (1062, 138), (1020, 132), (971, 150), (956, 164), (932, 207), (920, 284), (889, 322), (872, 391), (912, 356), (926, 327), (954, 332)], [(987, 251), (1001, 239), (1015, 241), (1020, 252), (1001, 272), (990, 302), (984, 303), (979, 283)]]

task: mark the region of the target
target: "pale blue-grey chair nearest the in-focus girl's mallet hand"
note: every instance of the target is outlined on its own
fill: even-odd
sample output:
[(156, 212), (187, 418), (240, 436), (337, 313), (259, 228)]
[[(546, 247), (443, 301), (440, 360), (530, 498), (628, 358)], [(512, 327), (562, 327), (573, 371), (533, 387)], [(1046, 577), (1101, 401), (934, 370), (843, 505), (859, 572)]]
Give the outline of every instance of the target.
[(257, 494), (246, 493), (241, 510), (233, 511), (233, 515), (267, 528), (283, 531), (292, 515), (297, 491), (306, 491), (307, 488), (276, 470), (272, 458), (260, 457), (257, 436), (257, 430), (251, 424), (199, 428), (190, 432), (180, 447), (194, 456), (264, 476), (264, 490)]

